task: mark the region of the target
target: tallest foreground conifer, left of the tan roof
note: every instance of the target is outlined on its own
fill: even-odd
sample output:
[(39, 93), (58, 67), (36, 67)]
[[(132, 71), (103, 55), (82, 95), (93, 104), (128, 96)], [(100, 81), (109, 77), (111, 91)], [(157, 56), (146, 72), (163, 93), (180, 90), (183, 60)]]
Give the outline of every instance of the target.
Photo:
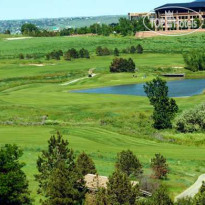
[[(79, 204), (84, 199), (85, 187), (83, 176), (75, 164), (73, 150), (69, 143), (58, 132), (48, 141), (48, 149), (42, 151), (37, 160), (36, 181), (39, 183), (38, 193), (45, 197), (43, 204), (62, 205)], [(58, 204), (58, 203), (57, 203)]]

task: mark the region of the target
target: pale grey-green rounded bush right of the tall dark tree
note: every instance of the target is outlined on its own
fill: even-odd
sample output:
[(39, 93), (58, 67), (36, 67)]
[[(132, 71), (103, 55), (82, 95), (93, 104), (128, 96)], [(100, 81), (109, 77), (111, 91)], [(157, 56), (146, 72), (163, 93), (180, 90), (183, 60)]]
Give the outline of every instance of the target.
[(183, 112), (176, 119), (176, 129), (180, 132), (205, 130), (205, 103)]

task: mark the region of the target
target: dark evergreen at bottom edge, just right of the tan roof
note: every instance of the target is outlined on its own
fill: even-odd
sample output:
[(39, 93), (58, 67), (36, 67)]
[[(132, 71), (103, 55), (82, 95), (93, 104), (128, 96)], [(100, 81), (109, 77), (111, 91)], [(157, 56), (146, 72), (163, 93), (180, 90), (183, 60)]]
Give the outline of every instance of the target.
[(134, 205), (139, 194), (137, 185), (133, 185), (126, 174), (116, 170), (109, 177), (107, 183), (107, 196), (109, 204), (113, 205)]

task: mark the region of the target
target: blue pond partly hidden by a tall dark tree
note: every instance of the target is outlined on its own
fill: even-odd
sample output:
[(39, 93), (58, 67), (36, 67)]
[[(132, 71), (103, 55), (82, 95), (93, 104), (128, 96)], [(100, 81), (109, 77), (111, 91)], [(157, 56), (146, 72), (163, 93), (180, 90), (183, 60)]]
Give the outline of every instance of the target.
[[(75, 90), (75, 93), (99, 93), (146, 96), (144, 84), (119, 85), (86, 90)], [(170, 97), (187, 97), (198, 95), (205, 89), (205, 79), (185, 79), (167, 82)]]

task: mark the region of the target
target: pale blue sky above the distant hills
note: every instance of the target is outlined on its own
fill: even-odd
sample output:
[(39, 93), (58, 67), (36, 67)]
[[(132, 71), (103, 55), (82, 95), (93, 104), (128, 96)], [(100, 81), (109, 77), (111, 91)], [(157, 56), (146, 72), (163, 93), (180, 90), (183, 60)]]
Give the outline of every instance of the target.
[(126, 15), (190, 0), (1, 0), (0, 20)]

